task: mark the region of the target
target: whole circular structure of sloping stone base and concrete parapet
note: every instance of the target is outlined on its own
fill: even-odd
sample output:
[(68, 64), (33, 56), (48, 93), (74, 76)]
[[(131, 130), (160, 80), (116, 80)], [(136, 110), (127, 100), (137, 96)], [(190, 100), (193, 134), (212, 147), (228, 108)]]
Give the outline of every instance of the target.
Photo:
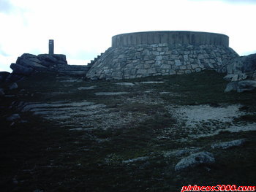
[(237, 56), (225, 34), (196, 31), (118, 34), (112, 37), (112, 47), (97, 58), (86, 77), (121, 80), (205, 69), (225, 72), (225, 63)]

